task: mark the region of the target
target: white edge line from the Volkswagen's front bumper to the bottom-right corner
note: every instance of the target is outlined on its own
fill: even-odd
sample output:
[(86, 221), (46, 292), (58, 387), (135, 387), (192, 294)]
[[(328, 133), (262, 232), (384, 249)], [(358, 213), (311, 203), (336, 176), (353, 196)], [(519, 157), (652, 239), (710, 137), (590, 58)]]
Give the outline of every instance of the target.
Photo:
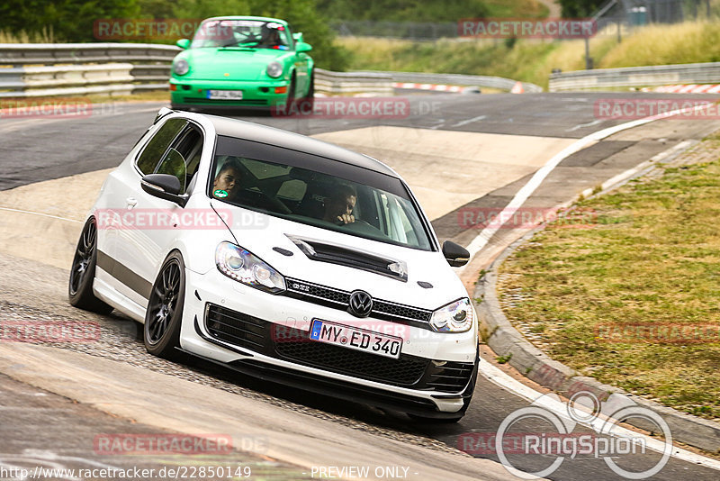
[[(490, 380), (492, 384), (500, 386), (501, 388), (509, 391), (510, 393), (526, 399), (527, 401), (533, 402), (536, 401), (538, 398), (542, 397), (541, 404), (539, 404), (541, 405), (541, 407), (543, 407), (547, 411), (562, 416), (563, 418), (568, 417), (566, 404), (555, 401), (548, 396), (544, 396), (542, 393), (537, 392), (532, 387), (524, 385), (514, 377), (510, 377), (508, 374), (502, 372), (499, 368), (493, 366), (490, 362), (483, 361), (481, 359), (479, 372), (482, 374), (482, 376)], [(590, 428), (592, 427), (590, 423), (579, 422), (579, 424), (583, 426), (588, 426)], [(613, 434), (617, 437), (623, 438), (642, 437), (647, 443), (647, 447), (649, 449), (653, 449), (653, 451), (656, 452), (662, 453), (665, 449), (665, 443), (662, 440), (658, 440), (657, 438), (652, 438), (643, 433), (628, 430), (620, 426), (617, 426), (613, 429)], [(690, 452), (687, 449), (681, 449), (673, 446), (671, 457), (678, 458), (682, 461), (687, 461), (696, 465), (710, 467), (711, 469), (716, 469), (720, 471), (720, 461), (713, 458), (706, 458), (705, 456), (700, 456), (699, 454)]]

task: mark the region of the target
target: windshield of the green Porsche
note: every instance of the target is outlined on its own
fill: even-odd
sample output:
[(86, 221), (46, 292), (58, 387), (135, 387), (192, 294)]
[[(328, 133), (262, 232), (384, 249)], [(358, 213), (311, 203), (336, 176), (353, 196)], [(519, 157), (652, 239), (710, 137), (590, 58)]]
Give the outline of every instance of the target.
[(195, 32), (191, 49), (253, 48), (289, 50), (288, 29), (282, 23), (260, 20), (206, 20)]

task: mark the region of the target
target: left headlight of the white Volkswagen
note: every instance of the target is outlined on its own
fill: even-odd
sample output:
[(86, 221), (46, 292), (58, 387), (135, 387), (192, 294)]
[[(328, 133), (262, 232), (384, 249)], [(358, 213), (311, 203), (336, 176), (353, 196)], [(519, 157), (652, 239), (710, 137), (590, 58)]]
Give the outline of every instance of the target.
[(273, 294), (285, 290), (285, 278), (252, 252), (230, 242), (215, 250), (215, 264), (227, 277)]

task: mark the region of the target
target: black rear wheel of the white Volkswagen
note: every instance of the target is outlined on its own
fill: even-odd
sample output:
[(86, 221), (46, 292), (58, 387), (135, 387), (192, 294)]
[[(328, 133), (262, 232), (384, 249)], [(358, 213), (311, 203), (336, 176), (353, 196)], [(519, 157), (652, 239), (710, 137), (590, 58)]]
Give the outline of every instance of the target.
[(91, 217), (85, 222), (80, 239), (77, 241), (75, 256), (70, 267), (67, 282), (67, 297), (70, 304), (85, 311), (108, 314), (112, 306), (103, 303), (93, 293), (95, 267), (97, 266), (97, 222)]

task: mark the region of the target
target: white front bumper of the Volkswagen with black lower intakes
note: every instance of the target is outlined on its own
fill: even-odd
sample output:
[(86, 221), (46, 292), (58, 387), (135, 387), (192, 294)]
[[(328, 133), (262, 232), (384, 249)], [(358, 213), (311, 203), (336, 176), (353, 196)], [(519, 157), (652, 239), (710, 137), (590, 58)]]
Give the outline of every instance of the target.
[(401, 358), (383, 358), (308, 340), (312, 319), (356, 325), (349, 313), (266, 294), (216, 269), (187, 275), (181, 346), (194, 355), (284, 385), (426, 417), (456, 417), (473, 394), (474, 329), (448, 335), (402, 326)]

